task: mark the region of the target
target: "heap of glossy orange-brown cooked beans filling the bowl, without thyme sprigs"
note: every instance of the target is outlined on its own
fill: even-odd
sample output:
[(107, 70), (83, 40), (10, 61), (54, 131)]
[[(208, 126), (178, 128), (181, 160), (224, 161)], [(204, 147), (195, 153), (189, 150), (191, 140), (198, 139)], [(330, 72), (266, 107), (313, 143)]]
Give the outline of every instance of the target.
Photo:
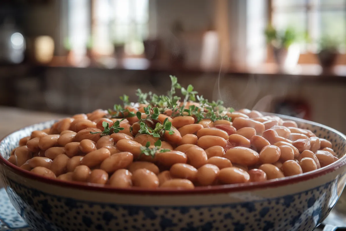
[[(143, 107), (130, 109), (146, 117)], [(45, 177), (96, 186), (193, 189), (298, 175), (338, 159), (328, 140), (294, 121), (248, 109), (228, 113), (232, 122), (195, 123), (192, 116), (160, 114), (158, 122), (172, 122), (174, 133), (160, 137), (162, 148), (171, 151), (146, 156), (141, 147), (159, 138), (138, 133), (137, 117), (121, 121), (125, 129), (119, 133), (90, 133), (103, 131), (102, 122), (111, 126), (120, 120), (107, 114), (98, 109), (34, 131), (20, 140), (8, 161)]]

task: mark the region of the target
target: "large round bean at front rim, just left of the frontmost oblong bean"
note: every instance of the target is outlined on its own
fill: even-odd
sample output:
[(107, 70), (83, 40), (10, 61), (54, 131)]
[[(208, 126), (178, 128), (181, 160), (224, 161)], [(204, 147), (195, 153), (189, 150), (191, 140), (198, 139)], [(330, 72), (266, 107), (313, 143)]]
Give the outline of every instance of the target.
[(140, 188), (157, 188), (159, 185), (155, 173), (148, 169), (137, 169), (132, 173), (131, 179), (133, 186)]

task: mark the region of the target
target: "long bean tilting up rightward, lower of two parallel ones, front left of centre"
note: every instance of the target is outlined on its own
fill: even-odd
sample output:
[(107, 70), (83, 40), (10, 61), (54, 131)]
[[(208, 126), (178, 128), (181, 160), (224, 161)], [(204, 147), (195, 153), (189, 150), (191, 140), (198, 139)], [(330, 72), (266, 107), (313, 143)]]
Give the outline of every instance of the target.
[(106, 172), (115, 172), (118, 169), (127, 168), (132, 162), (132, 153), (119, 152), (102, 161), (100, 168)]

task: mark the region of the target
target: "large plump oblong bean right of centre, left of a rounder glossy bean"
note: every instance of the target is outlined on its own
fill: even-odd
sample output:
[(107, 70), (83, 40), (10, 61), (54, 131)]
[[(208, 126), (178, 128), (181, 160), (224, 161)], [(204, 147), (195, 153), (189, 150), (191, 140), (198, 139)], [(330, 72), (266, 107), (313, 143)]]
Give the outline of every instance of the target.
[(260, 160), (256, 151), (245, 147), (229, 149), (225, 154), (225, 158), (229, 159), (232, 164), (236, 163), (244, 166), (255, 165)]

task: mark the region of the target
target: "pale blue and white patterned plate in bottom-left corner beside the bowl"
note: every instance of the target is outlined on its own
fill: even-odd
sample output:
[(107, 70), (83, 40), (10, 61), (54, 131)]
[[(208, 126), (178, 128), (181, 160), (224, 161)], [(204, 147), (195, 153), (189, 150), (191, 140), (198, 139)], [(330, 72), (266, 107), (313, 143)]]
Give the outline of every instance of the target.
[(4, 188), (0, 189), (0, 231), (33, 231), (17, 213)]

